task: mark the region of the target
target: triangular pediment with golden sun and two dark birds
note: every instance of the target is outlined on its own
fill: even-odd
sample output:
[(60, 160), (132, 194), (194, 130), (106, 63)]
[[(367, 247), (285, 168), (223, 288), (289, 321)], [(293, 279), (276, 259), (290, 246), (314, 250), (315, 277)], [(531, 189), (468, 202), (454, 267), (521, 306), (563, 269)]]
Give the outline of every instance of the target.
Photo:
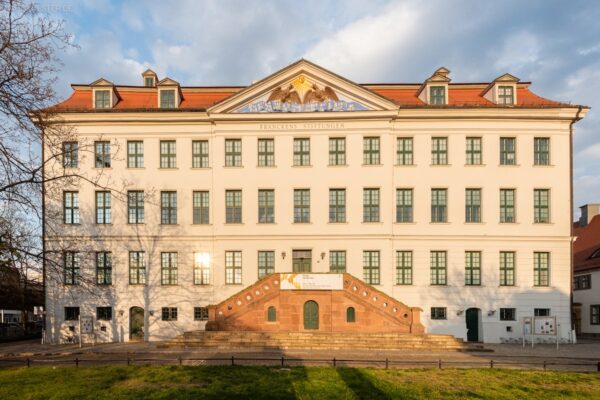
[(390, 100), (306, 60), (300, 60), (215, 104), (210, 113), (395, 110)]

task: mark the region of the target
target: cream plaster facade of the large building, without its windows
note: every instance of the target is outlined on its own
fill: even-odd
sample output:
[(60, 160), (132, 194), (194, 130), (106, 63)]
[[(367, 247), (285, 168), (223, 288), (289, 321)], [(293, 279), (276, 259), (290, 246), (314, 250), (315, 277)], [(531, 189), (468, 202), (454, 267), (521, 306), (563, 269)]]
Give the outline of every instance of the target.
[[(366, 104), (366, 111), (241, 114), (235, 110), (275, 84), (310, 73)], [(272, 81), (272, 82), (271, 82)], [(123, 89), (125, 90), (125, 89)], [(450, 94), (450, 96), (452, 96)], [(185, 93), (184, 93), (185, 97)], [(48, 333), (59, 342), (73, 321), (64, 308), (79, 306), (96, 317), (96, 307), (112, 307), (112, 320), (96, 321), (101, 341), (129, 340), (131, 307), (144, 309), (144, 337), (162, 340), (203, 329), (194, 307), (216, 304), (258, 278), (258, 251), (274, 252), (275, 272), (292, 271), (294, 250), (312, 251), (312, 272), (328, 272), (330, 251), (346, 251), (346, 271), (363, 277), (363, 252), (379, 251), (378, 289), (423, 309), (429, 333), (467, 339), (466, 310), (479, 309), (479, 339), (499, 342), (521, 337), (521, 319), (534, 309), (550, 309), (560, 336), (568, 337), (571, 285), (571, 125), (584, 112), (576, 108), (403, 108), (316, 68), (300, 64), (251, 86), (206, 112), (69, 113), (79, 142), (77, 172), (90, 181), (78, 191), (78, 225), (62, 222), (62, 196), (46, 198), (46, 246), (79, 251), (83, 280), (95, 280), (95, 252), (112, 253), (111, 285), (64, 285), (47, 280)], [(363, 163), (364, 138), (380, 140), (380, 162)], [(432, 138), (445, 137), (447, 165), (432, 164)], [(480, 165), (466, 164), (466, 138), (482, 143)], [(500, 165), (500, 138), (516, 138), (516, 164)], [(534, 165), (534, 138), (550, 140), (550, 163)], [(274, 139), (274, 166), (258, 163), (258, 139)], [(294, 166), (294, 139), (310, 140), (310, 163)], [(345, 165), (329, 165), (329, 139), (345, 138)], [(413, 139), (413, 164), (398, 165), (397, 139)], [(242, 165), (225, 166), (225, 140), (241, 139)], [(94, 141), (110, 141), (111, 167), (95, 168), (83, 151)], [(176, 141), (176, 167), (159, 168), (161, 140)], [(207, 140), (208, 168), (192, 168), (192, 141)], [(127, 168), (127, 142), (143, 141), (144, 166)], [(54, 168), (58, 171), (60, 168)], [(98, 186), (99, 185), (99, 186)], [(111, 191), (111, 223), (95, 223), (95, 192)], [(363, 189), (379, 189), (379, 222), (363, 222)], [(396, 221), (396, 190), (413, 190), (413, 222)], [(432, 188), (447, 189), (447, 222), (431, 216)], [(481, 222), (465, 222), (465, 190), (481, 189)], [(258, 220), (258, 190), (274, 190), (274, 223)], [(310, 222), (294, 223), (294, 189), (310, 189)], [(329, 222), (329, 190), (346, 190), (346, 219)], [(500, 223), (500, 189), (515, 189), (516, 222)], [(548, 223), (534, 223), (534, 189), (549, 189)], [(126, 192), (145, 192), (143, 224), (128, 224)], [(225, 221), (225, 191), (242, 191), (242, 222)], [(177, 224), (160, 222), (160, 192), (175, 191)], [(208, 191), (210, 223), (193, 224), (193, 191)], [(144, 251), (146, 285), (129, 284), (129, 252)], [(225, 253), (241, 251), (241, 284), (226, 284)], [(412, 251), (412, 284), (397, 285), (396, 252)], [(447, 254), (447, 284), (431, 285), (432, 251)], [(465, 252), (481, 254), (480, 285), (465, 285)], [(500, 252), (514, 252), (515, 280), (500, 285)], [(161, 285), (161, 252), (178, 254), (176, 285)], [(549, 254), (549, 283), (534, 282), (534, 253)], [(195, 253), (210, 257), (210, 284), (195, 285)], [(86, 279), (87, 277), (87, 279)], [(600, 282), (597, 283), (600, 285)], [(177, 308), (177, 321), (161, 320), (163, 307)], [(446, 319), (430, 318), (432, 307)], [(514, 308), (514, 321), (500, 320), (501, 308)], [(104, 327), (105, 330), (101, 330)], [(510, 328), (512, 331), (507, 331)]]

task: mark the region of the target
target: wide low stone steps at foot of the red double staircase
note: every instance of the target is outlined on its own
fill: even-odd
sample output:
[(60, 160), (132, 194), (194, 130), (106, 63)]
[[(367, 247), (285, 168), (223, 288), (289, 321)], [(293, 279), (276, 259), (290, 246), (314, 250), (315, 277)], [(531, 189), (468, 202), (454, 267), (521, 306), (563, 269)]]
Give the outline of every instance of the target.
[(329, 350), (476, 350), (481, 345), (464, 343), (450, 335), (338, 332), (240, 332), (192, 331), (161, 347), (216, 349), (329, 349)]

